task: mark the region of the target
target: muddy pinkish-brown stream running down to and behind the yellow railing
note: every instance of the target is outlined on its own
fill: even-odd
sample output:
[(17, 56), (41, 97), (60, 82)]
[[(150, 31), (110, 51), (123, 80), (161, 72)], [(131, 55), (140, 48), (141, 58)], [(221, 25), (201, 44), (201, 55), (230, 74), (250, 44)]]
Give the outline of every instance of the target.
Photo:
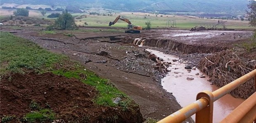
[[(193, 103), (196, 100), (197, 93), (200, 91), (208, 90), (213, 92), (218, 89), (218, 87), (211, 85), (210, 82), (207, 81), (209, 78), (200, 78), (199, 75), (195, 75), (196, 73), (201, 74), (198, 69), (192, 70), (189, 73), (189, 71), (185, 69), (186, 64), (172, 61), (172, 59), (179, 59), (178, 57), (166, 55), (156, 50), (147, 49), (147, 51), (152, 52), (166, 62), (172, 63), (172, 66), (168, 68), (171, 72), (161, 80), (161, 84), (164, 89), (173, 93), (173, 96), (175, 96), (182, 107)], [(194, 80), (187, 80), (187, 77), (192, 77)], [(219, 123), (243, 101), (242, 99), (232, 97), (230, 94), (215, 101), (213, 104), (213, 123)], [(193, 115), (192, 118), (195, 120), (195, 115)]]

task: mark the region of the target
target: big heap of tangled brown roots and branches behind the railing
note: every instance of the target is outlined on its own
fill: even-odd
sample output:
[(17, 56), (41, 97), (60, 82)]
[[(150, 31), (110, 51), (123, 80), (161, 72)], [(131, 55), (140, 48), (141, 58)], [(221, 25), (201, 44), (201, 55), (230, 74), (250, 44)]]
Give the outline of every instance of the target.
[[(255, 62), (246, 62), (238, 57), (238, 52), (224, 50), (216, 52), (199, 62), (199, 68), (202, 72), (209, 75), (210, 81), (218, 87), (236, 80), (237, 78), (254, 70)], [(235, 97), (249, 98), (255, 92), (254, 78), (245, 84), (242, 84), (230, 94)]]

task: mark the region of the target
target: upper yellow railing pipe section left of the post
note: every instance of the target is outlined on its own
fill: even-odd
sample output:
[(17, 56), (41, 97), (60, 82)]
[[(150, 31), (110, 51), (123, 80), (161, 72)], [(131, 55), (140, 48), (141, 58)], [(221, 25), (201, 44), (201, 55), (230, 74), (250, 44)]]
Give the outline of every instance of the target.
[(204, 109), (207, 105), (209, 105), (208, 100), (206, 98), (201, 98), (194, 103), (187, 105), (177, 112), (167, 116), (161, 121), (158, 121), (157, 123), (181, 123), (187, 118), (190, 118), (190, 116), (193, 114), (199, 112), (201, 109)]

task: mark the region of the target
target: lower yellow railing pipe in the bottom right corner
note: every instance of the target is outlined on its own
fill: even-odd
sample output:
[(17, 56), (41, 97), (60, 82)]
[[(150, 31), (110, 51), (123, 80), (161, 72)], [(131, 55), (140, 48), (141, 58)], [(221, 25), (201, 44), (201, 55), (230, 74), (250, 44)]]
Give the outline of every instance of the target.
[[(251, 108), (255, 106), (256, 106), (256, 92), (252, 94), (247, 100), (245, 100), (241, 105), (239, 105), (235, 110), (233, 110), (233, 112), (231, 112), (226, 118), (224, 118), (221, 121), (221, 123), (235, 123), (237, 121), (240, 121), (244, 116), (246, 116), (248, 112), (250, 112)], [(245, 122), (241, 122), (241, 123), (245, 123)]]

